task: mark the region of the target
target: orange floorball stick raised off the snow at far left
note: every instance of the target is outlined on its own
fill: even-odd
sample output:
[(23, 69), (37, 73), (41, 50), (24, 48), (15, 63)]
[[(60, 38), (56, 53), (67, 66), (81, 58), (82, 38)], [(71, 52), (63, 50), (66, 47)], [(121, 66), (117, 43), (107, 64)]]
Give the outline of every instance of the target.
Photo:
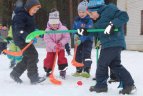
[(12, 52), (9, 51), (7, 49), (3, 50), (3, 53), (8, 54), (8, 55), (12, 55), (12, 56), (22, 56), (23, 52), (30, 47), (30, 45), (33, 43), (33, 41), (31, 41), (29, 44), (27, 44), (21, 51), (18, 52)]

